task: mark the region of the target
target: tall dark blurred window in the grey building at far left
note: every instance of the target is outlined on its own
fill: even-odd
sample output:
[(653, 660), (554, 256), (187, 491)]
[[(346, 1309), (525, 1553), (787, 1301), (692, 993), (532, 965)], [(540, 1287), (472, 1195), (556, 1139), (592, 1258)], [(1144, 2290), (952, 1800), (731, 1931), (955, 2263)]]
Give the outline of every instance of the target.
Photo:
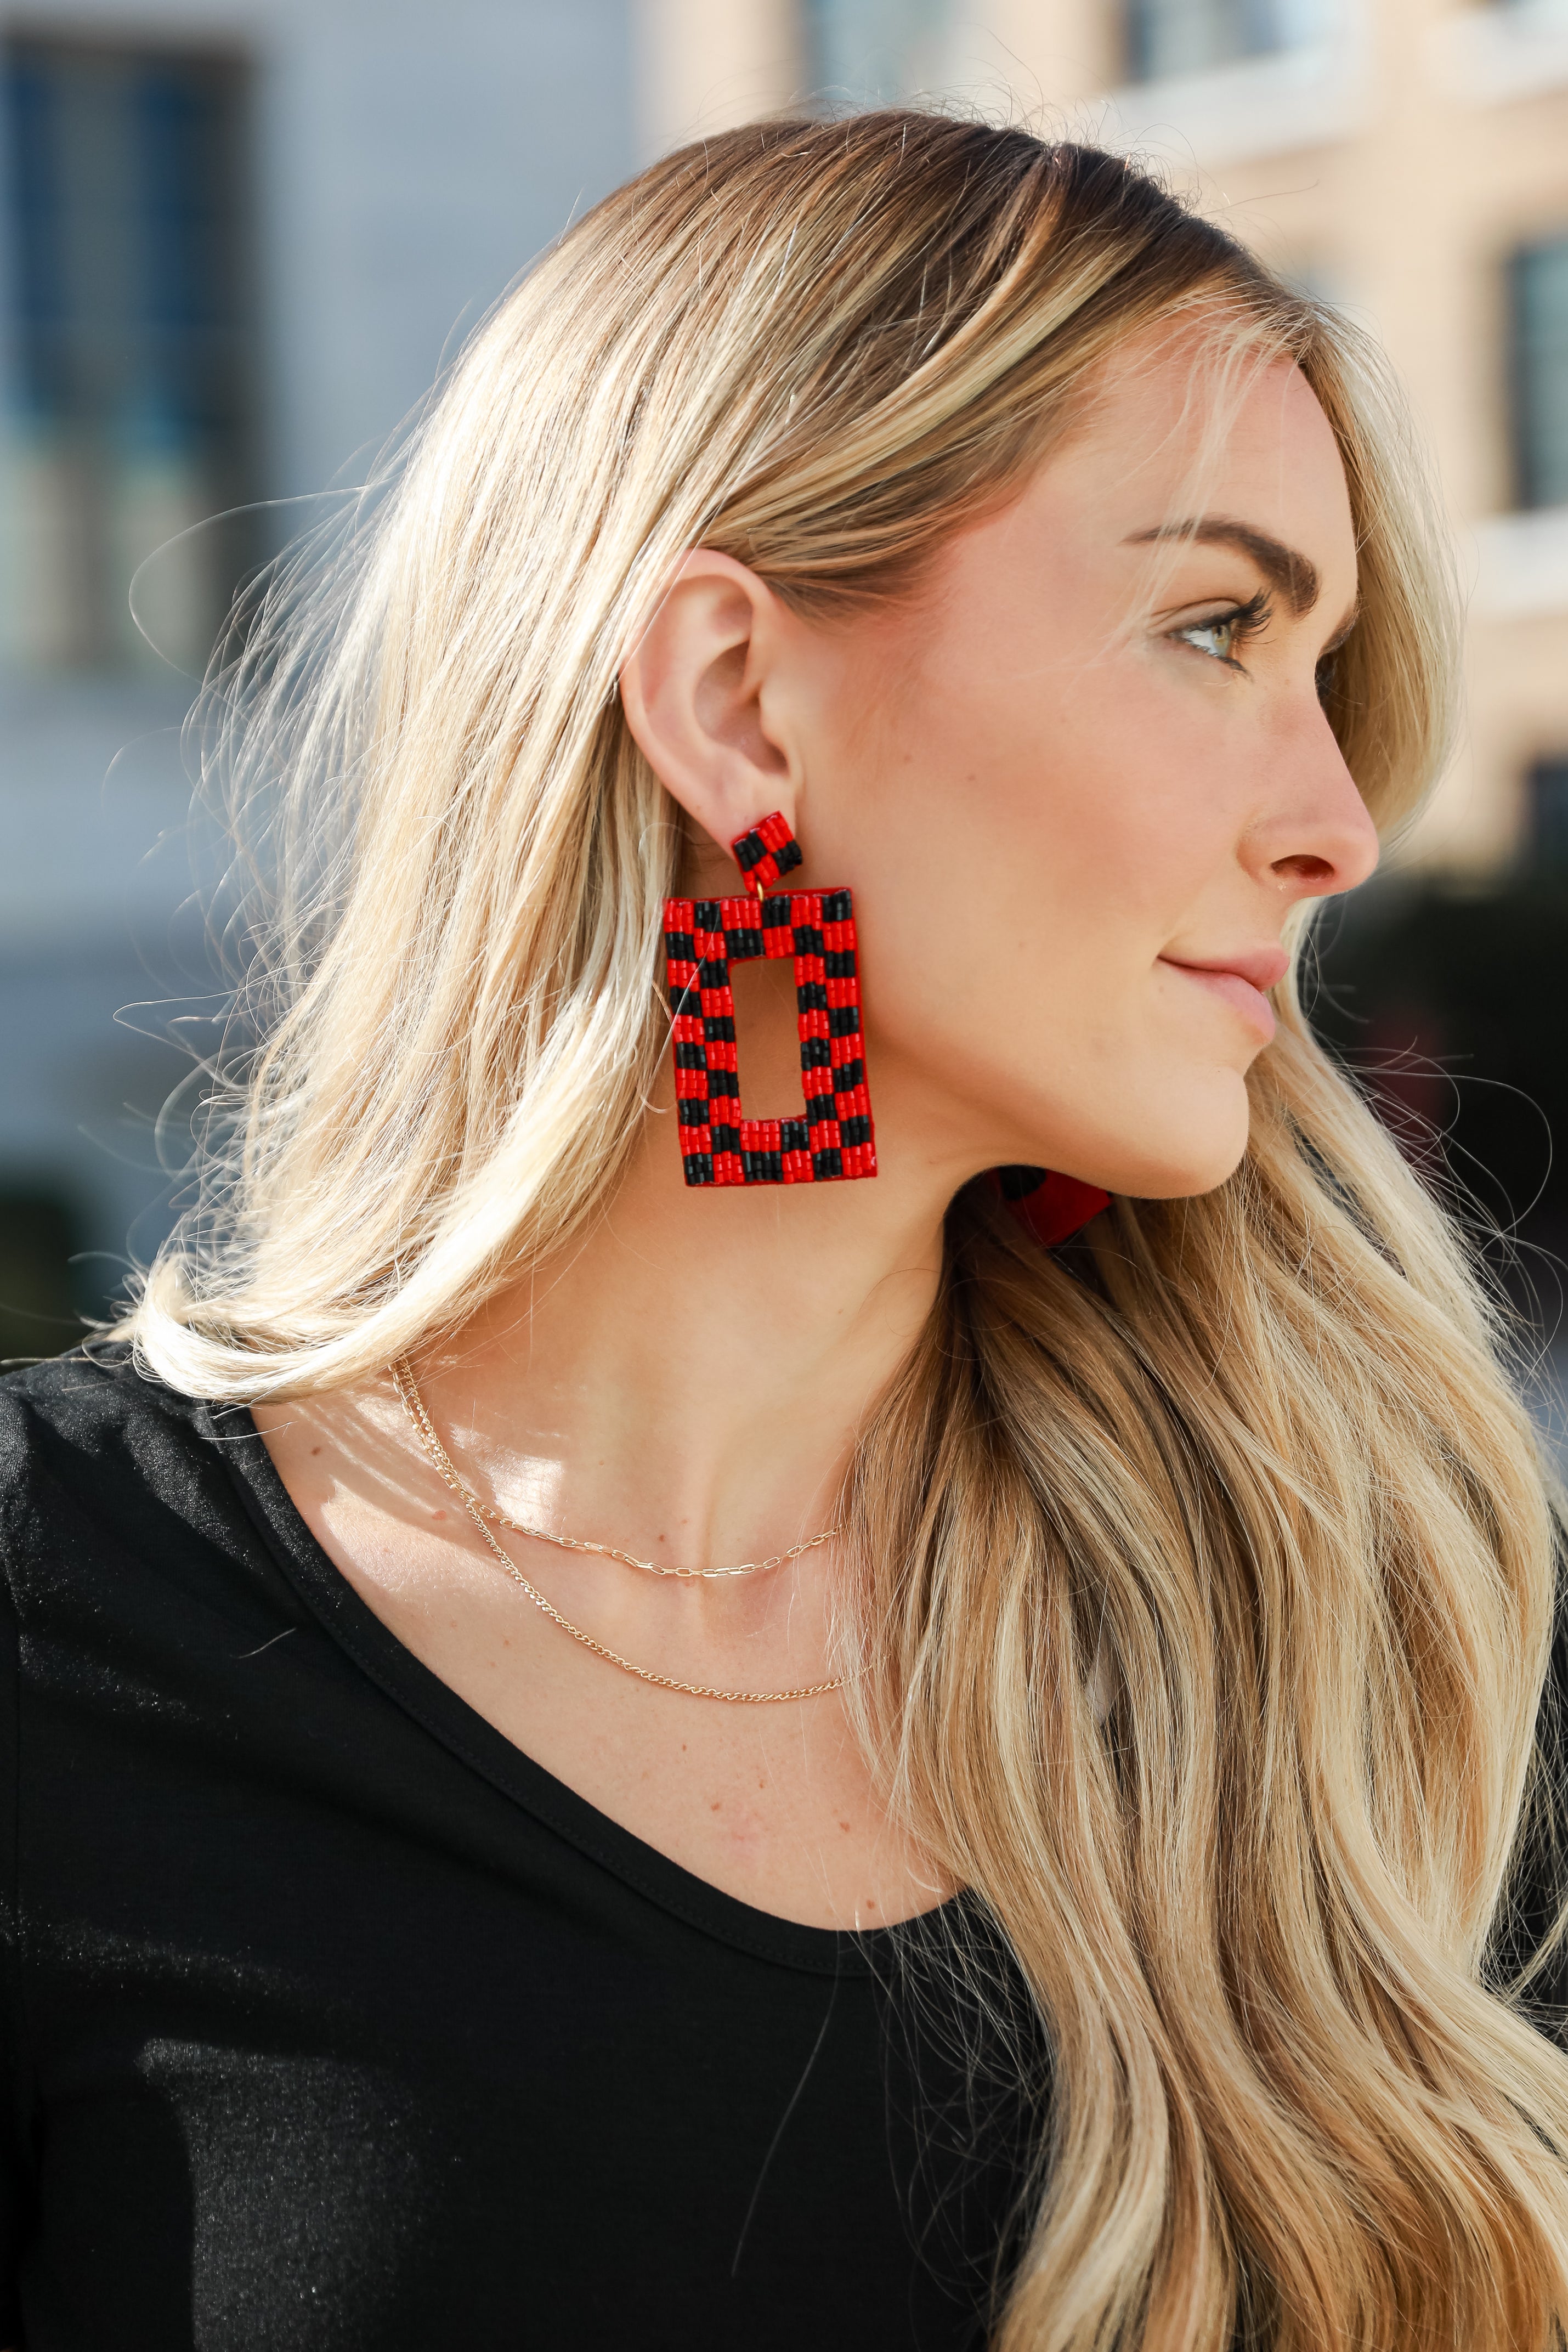
[(7, 153), (5, 652), (200, 670), (252, 492), (244, 73), (233, 59), (14, 38)]

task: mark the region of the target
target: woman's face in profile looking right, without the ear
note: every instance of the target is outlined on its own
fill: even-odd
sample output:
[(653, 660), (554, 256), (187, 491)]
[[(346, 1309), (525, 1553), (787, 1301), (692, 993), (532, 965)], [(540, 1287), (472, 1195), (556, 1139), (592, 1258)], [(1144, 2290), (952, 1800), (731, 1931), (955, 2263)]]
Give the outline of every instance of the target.
[(802, 882), (853, 884), (879, 1127), (896, 1115), (947, 1176), (1220, 1183), (1284, 922), (1378, 861), (1316, 687), (1356, 597), (1333, 433), (1269, 365), (1192, 515), (1192, 346), (1131, 346), (917, 597), (776, 619), (771, 804)]

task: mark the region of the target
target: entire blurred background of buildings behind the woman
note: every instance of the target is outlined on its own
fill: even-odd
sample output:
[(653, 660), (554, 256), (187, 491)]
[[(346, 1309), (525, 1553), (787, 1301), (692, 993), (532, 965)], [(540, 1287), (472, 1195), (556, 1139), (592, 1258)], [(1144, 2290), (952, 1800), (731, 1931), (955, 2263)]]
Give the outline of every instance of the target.
[(209, 985), (179, 727), (235, 583), (616, 181), (900, 94), (1152, 158), (1403, 372), (1467, 734), (1326, 929), (1316, 1018), (1554, 1343), (1568, 0), (42, 0), (0, 5), (0, 1357), (68, 1345), (167, 1223), (169, 1000)]

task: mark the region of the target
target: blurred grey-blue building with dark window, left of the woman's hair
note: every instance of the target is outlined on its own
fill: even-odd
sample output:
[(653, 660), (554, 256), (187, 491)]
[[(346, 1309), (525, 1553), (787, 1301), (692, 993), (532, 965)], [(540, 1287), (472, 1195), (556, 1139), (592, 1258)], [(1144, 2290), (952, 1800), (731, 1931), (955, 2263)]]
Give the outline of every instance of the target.
[[(183, 1063), (167, 1009), (134, 1007), (207, 978), (176, 913), (190, 675), (134, 635), (132, 567), (219, 506), (360, 477), (639, 160), (632, 38), (630, 0), (0, 14), (0, 1355), (68, 1338), (7, 1303), (96, 1303), (127, 1235), (146, 1254), (162, 1230), (150, 1120)], [(186, 673), (299, 513), (195, 532), (141, 576)], [(61, 1237), (101, 1254), (75, 1301)]]

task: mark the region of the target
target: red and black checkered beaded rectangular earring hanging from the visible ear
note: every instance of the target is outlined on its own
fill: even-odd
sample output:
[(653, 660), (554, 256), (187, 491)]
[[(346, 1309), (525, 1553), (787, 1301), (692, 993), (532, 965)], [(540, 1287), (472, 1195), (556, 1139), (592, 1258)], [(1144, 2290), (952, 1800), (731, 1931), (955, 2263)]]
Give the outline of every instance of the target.
[[(778, 811), (738, 833), (731, 849), (750, 896), (665, 898), (675, 1115), (686, 1183), (875, 1176), (853, 898), (846, 889), (773, 891), (802, 863), (799, 842)], [(741, 1112), (729, 967), (759, 955), (795, 964), (806, 1098), (799, 1120), (748, 1120)]]

